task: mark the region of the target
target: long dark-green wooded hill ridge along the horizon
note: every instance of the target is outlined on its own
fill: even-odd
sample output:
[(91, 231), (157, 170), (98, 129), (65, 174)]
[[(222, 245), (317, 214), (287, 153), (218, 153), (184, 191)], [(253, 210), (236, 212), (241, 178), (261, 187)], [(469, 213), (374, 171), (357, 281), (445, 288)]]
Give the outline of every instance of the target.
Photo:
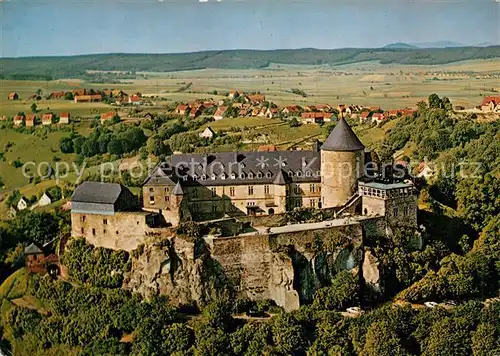
[(1, 58), (0, 78), (51, 80), (85, 78), (87, 70), (173, 72), (204, 68), (266, 68), (271, 63), (340, 65), (364, 61), (382, 64), (445, 64), (500, 57), (500, 46), (460, 48), (313, 48), (227, 50), (175, 54), (90, 54), (66, 57)]

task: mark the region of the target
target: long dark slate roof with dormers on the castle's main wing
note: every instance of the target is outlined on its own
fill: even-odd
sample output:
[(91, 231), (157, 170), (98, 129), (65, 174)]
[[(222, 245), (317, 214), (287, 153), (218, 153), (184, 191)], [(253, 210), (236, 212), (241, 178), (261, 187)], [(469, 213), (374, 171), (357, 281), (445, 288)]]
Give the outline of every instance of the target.
[(320, 168), (318, 151), (182, 154), (172, 155), (167, 162), (157, 166), (145, 185), (173, 187), (177, 182), (182, 186), (275, 184), (275, 180), (276, 184), (320, 182)]

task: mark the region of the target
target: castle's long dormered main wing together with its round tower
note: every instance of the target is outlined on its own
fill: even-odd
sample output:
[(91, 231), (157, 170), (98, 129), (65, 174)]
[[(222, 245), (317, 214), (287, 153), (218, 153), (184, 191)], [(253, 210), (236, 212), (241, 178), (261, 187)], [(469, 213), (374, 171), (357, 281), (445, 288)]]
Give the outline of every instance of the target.
[(341, 119), (321, 147), (308, 151), (172, 155), (145, 180), (143, 208), (174, 225), (190, 215), (213, 219), (340, 208), (360, 197), (364, 149)]

